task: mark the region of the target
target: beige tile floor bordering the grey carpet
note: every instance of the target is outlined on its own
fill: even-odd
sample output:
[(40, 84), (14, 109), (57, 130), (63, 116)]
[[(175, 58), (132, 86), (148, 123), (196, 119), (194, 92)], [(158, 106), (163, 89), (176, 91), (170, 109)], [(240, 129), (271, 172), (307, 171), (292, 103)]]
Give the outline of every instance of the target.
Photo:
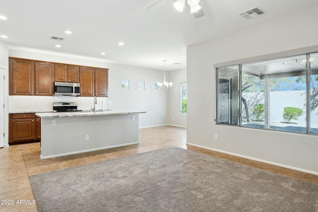
[[(139, 140), (139, 144), (43, 160), (40, 159), (40, 143), (19, 144), (7, 148), (0, 148), (0, 201), (4, 204), (2, 205), (0, 203), (0, 212), (37, 212), (36, 206), (32, 205), (34, 197), (28, 178), (29, 175), (172, 146), (201, 152), (203, 154), (318, 184), (317, 175), (186, 145), (186, 129), (181, 127), (161, 126), (143, 128), (139, 131)], [(13, 200), (14, 204), (8, 205), (7, 202), (4, 202), (8, 200)], [(29, 200), (30, 204), (25, 202), (27, 205), (19, 205), (16, 204), (17, 200)]]

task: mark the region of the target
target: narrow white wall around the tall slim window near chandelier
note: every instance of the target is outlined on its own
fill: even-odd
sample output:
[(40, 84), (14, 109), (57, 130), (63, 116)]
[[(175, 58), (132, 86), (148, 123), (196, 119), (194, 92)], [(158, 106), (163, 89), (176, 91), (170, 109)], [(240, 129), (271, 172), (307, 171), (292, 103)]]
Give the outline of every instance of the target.
[[(171, 125), (186, 127), (186, 114), (181, 114), (181, 83), (187, 81), (186, 69), (180, 69), (169, 72), (167, 80), (173, 82), (169, 89), (169, 115), (168, 122)], [(173, 119), (172, 119), (173, 118)]]

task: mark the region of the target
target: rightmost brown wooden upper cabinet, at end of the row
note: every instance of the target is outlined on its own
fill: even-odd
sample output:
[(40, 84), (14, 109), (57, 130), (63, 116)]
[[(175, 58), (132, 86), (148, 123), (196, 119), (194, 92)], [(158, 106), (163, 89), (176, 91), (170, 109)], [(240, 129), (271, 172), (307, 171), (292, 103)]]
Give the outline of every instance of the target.
[(108, 96), (108, 69), (95, 69), (95, 97)]

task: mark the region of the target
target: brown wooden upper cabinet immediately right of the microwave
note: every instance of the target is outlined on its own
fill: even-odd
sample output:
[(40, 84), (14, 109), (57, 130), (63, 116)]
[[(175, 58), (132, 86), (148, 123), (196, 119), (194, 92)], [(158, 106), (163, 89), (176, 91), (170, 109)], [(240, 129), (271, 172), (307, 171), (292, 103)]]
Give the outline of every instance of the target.
[(94, 68), (80, 67), (79, 68), (79, 84), (81, 97), (94, 96)]

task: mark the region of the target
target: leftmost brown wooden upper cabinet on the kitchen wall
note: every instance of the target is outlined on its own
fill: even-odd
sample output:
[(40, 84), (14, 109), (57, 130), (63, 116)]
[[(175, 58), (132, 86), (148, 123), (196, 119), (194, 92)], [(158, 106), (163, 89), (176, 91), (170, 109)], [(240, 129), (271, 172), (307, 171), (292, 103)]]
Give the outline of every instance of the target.
[(9, 72), (9, 95), (33, 95), (33, 61), (9, 58)]

